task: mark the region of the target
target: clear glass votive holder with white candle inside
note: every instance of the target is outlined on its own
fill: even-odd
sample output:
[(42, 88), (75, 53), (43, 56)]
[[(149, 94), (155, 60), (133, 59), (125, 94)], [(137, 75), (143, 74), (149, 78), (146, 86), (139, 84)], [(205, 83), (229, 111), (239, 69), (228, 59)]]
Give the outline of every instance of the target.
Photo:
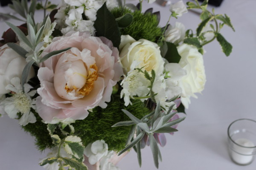
[(238, 119), (228, 129), (228, 149), (230, 158), (239, 165), (248, 165), (256, 155), (256, 121)]

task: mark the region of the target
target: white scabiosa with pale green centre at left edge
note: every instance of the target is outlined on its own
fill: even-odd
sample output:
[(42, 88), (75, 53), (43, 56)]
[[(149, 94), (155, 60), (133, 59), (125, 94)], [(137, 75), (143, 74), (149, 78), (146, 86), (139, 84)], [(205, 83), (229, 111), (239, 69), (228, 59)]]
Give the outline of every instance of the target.
[(8, 116), (12, 119), (17, 117), (17, 113), (21, 113), (19, 119), (20, 125), (27, 125), (28, 123), (35, 123), (35, 115), (31, 112), (31, 108), (35, 108), (35, 99), (31, 99), (36, 91), (30, 91), (32, 87), (29, 84), (24, 85), (24, 92), (20, 85), (20, 78), (14, 77), (11, 79), (11, 84), (6, 86), (6, 90), (10, 90), (15, 94), (12, 97), (7, 97), (1, 102), (1, 106)]

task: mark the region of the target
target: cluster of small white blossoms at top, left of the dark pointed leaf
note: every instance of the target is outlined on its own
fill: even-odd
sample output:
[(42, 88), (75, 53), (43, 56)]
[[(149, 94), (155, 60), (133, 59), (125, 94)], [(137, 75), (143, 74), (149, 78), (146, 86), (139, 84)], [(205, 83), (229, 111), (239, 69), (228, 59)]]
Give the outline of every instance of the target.
[(55, 14), (62, 34), (67, 34), (70, 31), (89, 31), (91, 35), (94, 35), (93, 24), (96, 14), (105, 2), (109, 9), (118, 5), (116, 0), (62, 0), (59, 10)]

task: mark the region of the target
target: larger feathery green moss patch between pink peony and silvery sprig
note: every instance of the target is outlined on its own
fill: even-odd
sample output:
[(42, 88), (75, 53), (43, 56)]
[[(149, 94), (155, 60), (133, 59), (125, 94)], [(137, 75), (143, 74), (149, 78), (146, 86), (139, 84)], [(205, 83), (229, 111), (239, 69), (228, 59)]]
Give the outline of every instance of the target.
[(73, 124), (75, 133), (82, 139), (83, 145), (94, 142), (96, 140), (105, 140), (109, 150), (122, 150), (125, 147), (131, 126), (111, 127), (117, 122), (129, 120), (121, 110), (125, 108), (134, 116), (141, 119), (149, 113), (143, 102), (134, 101), (133, 105), (124, 106), (122, 99), (115, 99), (108, 103), (108, 107), (102, 109), (94, 108), (84, 120), (77, 120)]

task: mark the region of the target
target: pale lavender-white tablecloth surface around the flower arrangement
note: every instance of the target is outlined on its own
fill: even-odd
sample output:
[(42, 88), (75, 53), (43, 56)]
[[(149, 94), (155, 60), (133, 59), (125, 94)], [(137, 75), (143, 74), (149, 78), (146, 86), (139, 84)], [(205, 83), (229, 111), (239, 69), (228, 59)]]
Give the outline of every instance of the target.
[[(134, 0), (131, 2), (136, 3)], [(160, 25), (164, 26), (169, 18), (169, 8), (143, 3), (143, 10), (150, 7), (161, 12)], [(218, 42), (205, 46), (205, 90), (202, 95), (198, 94), (198, 99), (192, 99), (186, 110), (186, 119), (178, 126), (179, 132), (174, 136), (166, 135), (167, 144), (160, 148), (163, 161), (159, 170), (256, 169), (256, 161), (248, 166), (239, 166), (230, 160), (227, 153), (228, 125), (240, 118), (256, 120), (255, 7), (255, 0), (224, 0), (220, 7), (215, 8), (216, 14), (228, 14), (236, 29), (236, 32), (228, 27), (222, 30), (224, 37), (233, 45), (233, 52), (230, 57), (225, 57)], [(8, 9), (2, 7), (0, 11)], [(36, 17), (41, 19), (41, 14), (37, 12)], [(172, 19), (170, 23), (175, 21)], [(198, 15), (192, 12), (184, 14), (178, 21), (194, 30), (200, 22)], [(7, 28), (0, 22), (0, 34)], [(0, 170), (43, 170), (38, 160), (46, 154), (36, 149), (34, 138), (21, 130), (17, 120), (8, 116), (0, 118)], [(149, 147), (142, 150), (142, 159), (141, 170), (156, 170)], [(121, 170), (140, 169), (134, 151), (117, 165)]]

